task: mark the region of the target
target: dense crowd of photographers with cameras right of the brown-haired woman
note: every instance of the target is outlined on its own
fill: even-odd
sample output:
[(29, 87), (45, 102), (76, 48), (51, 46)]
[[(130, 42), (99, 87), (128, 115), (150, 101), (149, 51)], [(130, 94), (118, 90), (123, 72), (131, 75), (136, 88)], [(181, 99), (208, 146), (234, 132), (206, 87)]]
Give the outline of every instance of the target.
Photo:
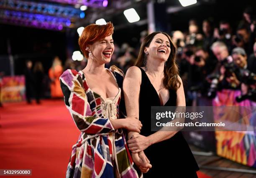
[(180, 76), (187, 81), (187, 105), (212, 105), (212, 98), (223, 89), (240, 91), (233, 102), (256, 101), (255, 23), (253, 12), (247, 8), (236, 29), (225, 20), (218, 28), (203, 20), (200, 33), (197, 22), (190, 20), (188, 34), (174, 31)]

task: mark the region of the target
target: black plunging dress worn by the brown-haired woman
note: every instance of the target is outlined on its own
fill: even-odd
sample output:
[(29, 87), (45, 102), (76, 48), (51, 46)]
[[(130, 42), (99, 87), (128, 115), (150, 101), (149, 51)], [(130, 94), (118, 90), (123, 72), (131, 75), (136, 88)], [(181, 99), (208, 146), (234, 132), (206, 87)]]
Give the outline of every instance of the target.
[[(176, 91), (169, 90), (169, 100), (164, 106), (176, 106), (176, 99)], [(141, 69), (139, 120), (143, 125), (140, 134), (144, 136), (154, 133), (151, 131), (151, 106), (161, 106), (160, 99)], [(145, 178), (197, 178), (197, 162), (180, 131), (168, 140), (149, 146), (144, 153), (152, 164), (148, 173), (143, 174)]]

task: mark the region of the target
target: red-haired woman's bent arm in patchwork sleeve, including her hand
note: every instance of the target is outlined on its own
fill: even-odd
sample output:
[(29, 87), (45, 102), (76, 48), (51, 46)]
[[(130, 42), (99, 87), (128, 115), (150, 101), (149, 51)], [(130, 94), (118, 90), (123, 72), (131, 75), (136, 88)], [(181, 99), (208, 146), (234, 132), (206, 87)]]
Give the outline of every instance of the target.
[(110, 120), (109, 118), (94, 117), (90, 109), (87, 95), (83, 88), (82, 76), (76, 70), (66, 70), (60, 76), (61, 90), (64, 102), (77, 128), (87, 134), (108, 133), (119, 128), (139, 131), (140, 122), (133, 117), (127, 119)]

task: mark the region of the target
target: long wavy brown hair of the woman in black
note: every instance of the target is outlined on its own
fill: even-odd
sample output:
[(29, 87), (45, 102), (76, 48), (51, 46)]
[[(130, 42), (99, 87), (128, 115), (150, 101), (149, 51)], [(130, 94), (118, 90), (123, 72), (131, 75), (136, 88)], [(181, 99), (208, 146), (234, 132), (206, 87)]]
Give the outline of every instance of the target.
[(164, 67), (164, 86), (166, 89), (175, 89), (177, 91), (177, 89), (180, 87), (181, 82), (178, 79), (179, 76), (179, 69), (175, 60), (175, 53), (176, 53), (176, 48), (174, 46), (174, 44), (172, 43), (171, 37), (164, 32), (154, 32), (149, 34), (148, 36), (146, 36), (146, 38), (144, 39), (144, 41), (141, 44), (141, 48), (140, 48), (140, 52), (138, 55), (138, 58), (135, 62), (135, 66), (138, 67), (144, 67), (143, 66), (143, 60), (144, 60), (144, 49), (145, 47), (148, 47), (151, 43), (151, 41), (153, 40), (154, 36), (156, 36), (156, 34), (158, 33), (162, 33), (165, 36), (167, 36), (167, 38), (169, 39), (170, 42), (170, 47), (171, 47), (171, 53), (169, 55), (169, 58), (166, 61), (166, 66)]

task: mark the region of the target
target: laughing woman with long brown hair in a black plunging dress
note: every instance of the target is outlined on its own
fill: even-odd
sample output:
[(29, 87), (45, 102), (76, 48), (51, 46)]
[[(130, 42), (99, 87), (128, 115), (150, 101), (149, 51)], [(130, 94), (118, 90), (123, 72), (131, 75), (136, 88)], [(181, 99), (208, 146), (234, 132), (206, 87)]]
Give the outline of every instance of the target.
[(181, 132), (151, 131), (151, 106), (186, 105), (175, 52), (167, 33), (151, 33), (123, 81), (127, 115), (137, 116), (143, 125), (140, 134), (129, 132), (128, 147), (132, 156), (146, 155), (152, 165), (144, 177), (194, 178), (199, 170)]

